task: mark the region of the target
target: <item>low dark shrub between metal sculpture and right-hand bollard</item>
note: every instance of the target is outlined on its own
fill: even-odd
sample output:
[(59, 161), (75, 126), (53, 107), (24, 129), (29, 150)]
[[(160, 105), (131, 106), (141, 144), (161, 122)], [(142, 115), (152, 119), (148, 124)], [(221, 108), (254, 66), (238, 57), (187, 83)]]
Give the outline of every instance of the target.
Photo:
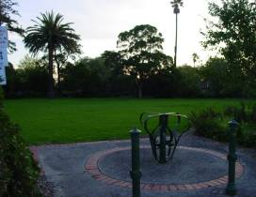
[(226, 128), (221, 124), (223, 116), (213, 108), (206, 108), (198, 113), (192, 112), (191, 123), (195, 134), (219, 141), (227, 140)]

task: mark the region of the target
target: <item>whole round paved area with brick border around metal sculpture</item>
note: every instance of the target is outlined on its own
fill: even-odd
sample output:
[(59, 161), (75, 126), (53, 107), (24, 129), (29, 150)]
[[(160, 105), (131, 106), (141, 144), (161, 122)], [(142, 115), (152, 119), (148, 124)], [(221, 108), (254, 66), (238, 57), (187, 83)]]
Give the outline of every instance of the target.
[[(159, 164), (152, 158), (150, 146), (140, 149), (141, 189), (145, 190), (191, 190), (206, 189), (227, 184), (227, 156), (204, 148), (179, 146), (174, 158)], [(113, 148), (92, 155), (86, 171), (93, 178), (106, 184), (131, 188), (130, 147)], [(236, 163), (236, 178), (244, 167)]]

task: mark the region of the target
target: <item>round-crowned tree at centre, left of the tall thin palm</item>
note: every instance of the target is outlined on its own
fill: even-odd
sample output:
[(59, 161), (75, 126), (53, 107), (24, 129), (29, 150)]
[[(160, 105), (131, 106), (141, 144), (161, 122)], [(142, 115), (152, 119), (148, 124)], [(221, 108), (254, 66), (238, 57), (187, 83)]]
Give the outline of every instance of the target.
[(158, 70), (171, 67), (172, 59), (162, 53), (164, 38), (150, 24), (136, 25), (120, 33), (118, 48), (123, 70), (136, 79), (138, 97), (142, 98), (142, 86), (146, 79)]

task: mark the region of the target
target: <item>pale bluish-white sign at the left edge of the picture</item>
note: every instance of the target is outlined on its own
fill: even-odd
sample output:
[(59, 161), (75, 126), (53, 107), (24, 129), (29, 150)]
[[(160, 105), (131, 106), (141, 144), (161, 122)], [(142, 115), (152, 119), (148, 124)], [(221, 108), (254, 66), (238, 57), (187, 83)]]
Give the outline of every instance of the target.
[(0, 26), (0, 85), (7, 84), (6, 67), (8, 67), (8, 29)]

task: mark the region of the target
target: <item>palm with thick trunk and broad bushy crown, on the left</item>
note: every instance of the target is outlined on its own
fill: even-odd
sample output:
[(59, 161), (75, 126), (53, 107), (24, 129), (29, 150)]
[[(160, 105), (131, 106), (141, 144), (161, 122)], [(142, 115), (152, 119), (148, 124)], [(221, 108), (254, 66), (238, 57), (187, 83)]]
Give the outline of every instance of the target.
[(48, 97), (55, 97), (54, 82), (54, 54), (62, 49), (72, 53), (80, 47), (77, 43), (80, 37), (74, 34), (70, 27), (72, 23), (63, 23), (63, 16), (53, 11), (41, 13), (38, 21), (32, 20), (35, 24), (26, 29), (24, 37), (25, 47), (30, 53), (37, 55), (39, 52), (48, 54)]

